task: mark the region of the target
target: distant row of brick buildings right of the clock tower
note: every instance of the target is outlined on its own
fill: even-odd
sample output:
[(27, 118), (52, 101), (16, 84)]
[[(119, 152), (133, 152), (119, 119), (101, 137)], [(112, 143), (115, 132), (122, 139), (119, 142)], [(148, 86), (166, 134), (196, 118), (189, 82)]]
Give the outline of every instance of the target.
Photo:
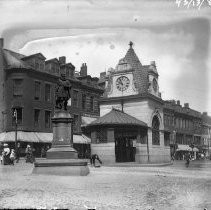
[(164, 138), (171, 146), (171, 154), (183, 159), (187, 151), (195, 158), (199, 153), (209, 156), (209, 116), (201, 114), (180, 101), (164, 103)]

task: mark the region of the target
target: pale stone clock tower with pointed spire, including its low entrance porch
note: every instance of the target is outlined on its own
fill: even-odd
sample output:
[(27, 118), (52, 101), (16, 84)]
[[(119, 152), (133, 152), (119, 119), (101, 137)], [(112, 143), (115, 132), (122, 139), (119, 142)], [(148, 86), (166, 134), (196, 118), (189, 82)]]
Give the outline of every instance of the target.
[(164, 143), (164, 102), (158, 76), (155, 62), (142, 65), (130, 42), (115, 69), (100, 78), (105, 92), (100, 99), (101, 117), (92, 125), (96, 127), (91, 149), (104, 162), (170, 161), (170, 147)]

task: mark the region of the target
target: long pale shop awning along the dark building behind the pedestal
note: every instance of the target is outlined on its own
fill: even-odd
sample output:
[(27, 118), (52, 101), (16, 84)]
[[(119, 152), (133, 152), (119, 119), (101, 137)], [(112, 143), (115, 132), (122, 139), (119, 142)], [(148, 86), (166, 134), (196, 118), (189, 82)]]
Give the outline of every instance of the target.
[[(31, 142), (31, 143), (51, 143), (53, 133), (42, 132), (17, 132), (17, 141)], [(0, 133), (0, 142), (14, 142), (15, 131)], [(73, 143), (75, 144), (90, 144), (91, 139), (85, 135), (73, 135)]]

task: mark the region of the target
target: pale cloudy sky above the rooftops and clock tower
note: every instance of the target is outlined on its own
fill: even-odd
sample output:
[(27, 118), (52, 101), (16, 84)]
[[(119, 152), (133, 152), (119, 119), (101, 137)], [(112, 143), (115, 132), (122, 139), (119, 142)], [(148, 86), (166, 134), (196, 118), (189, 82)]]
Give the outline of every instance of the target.
[(188, 2), (0, 0), (0, 36), (7, 49), (66, 56), (97, 77), (115, 68), (132, 41), (143, 65), (156, 62), (164, 100), (211, 115), (211, 6)]

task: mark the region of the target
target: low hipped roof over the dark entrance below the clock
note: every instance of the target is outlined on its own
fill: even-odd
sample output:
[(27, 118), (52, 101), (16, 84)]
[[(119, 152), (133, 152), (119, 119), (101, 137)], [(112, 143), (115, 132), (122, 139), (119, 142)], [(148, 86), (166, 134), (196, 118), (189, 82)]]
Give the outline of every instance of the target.
[(87, 126), (91, 127), (96, 125), (128, 125), (147, 127), (146, 123), (117, 109), (112, 109), (109, 113), (99, 117)]

